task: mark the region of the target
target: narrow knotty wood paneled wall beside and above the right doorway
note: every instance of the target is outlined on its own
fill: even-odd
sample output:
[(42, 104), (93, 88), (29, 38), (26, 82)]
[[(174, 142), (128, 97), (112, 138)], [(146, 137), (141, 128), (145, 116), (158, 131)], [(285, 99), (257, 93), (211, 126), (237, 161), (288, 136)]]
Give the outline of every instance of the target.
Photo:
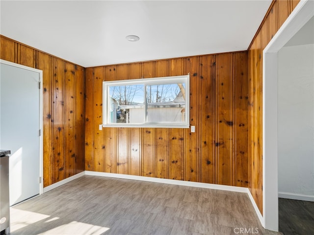
[(248, 49), (249, 188), (261, 213), (262, 205), (262, 62), (263, 49), (286, 21), (299, 0), (274, 0)]

